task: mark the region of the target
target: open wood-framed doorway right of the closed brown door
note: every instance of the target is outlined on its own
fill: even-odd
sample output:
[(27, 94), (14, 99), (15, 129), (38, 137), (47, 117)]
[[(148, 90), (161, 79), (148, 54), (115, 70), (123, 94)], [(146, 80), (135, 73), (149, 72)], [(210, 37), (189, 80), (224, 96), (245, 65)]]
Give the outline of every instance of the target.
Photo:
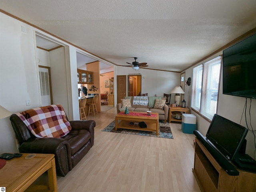
[(128, 75), (128, 96), (138, 96), (141, 93), (141, 75)]

